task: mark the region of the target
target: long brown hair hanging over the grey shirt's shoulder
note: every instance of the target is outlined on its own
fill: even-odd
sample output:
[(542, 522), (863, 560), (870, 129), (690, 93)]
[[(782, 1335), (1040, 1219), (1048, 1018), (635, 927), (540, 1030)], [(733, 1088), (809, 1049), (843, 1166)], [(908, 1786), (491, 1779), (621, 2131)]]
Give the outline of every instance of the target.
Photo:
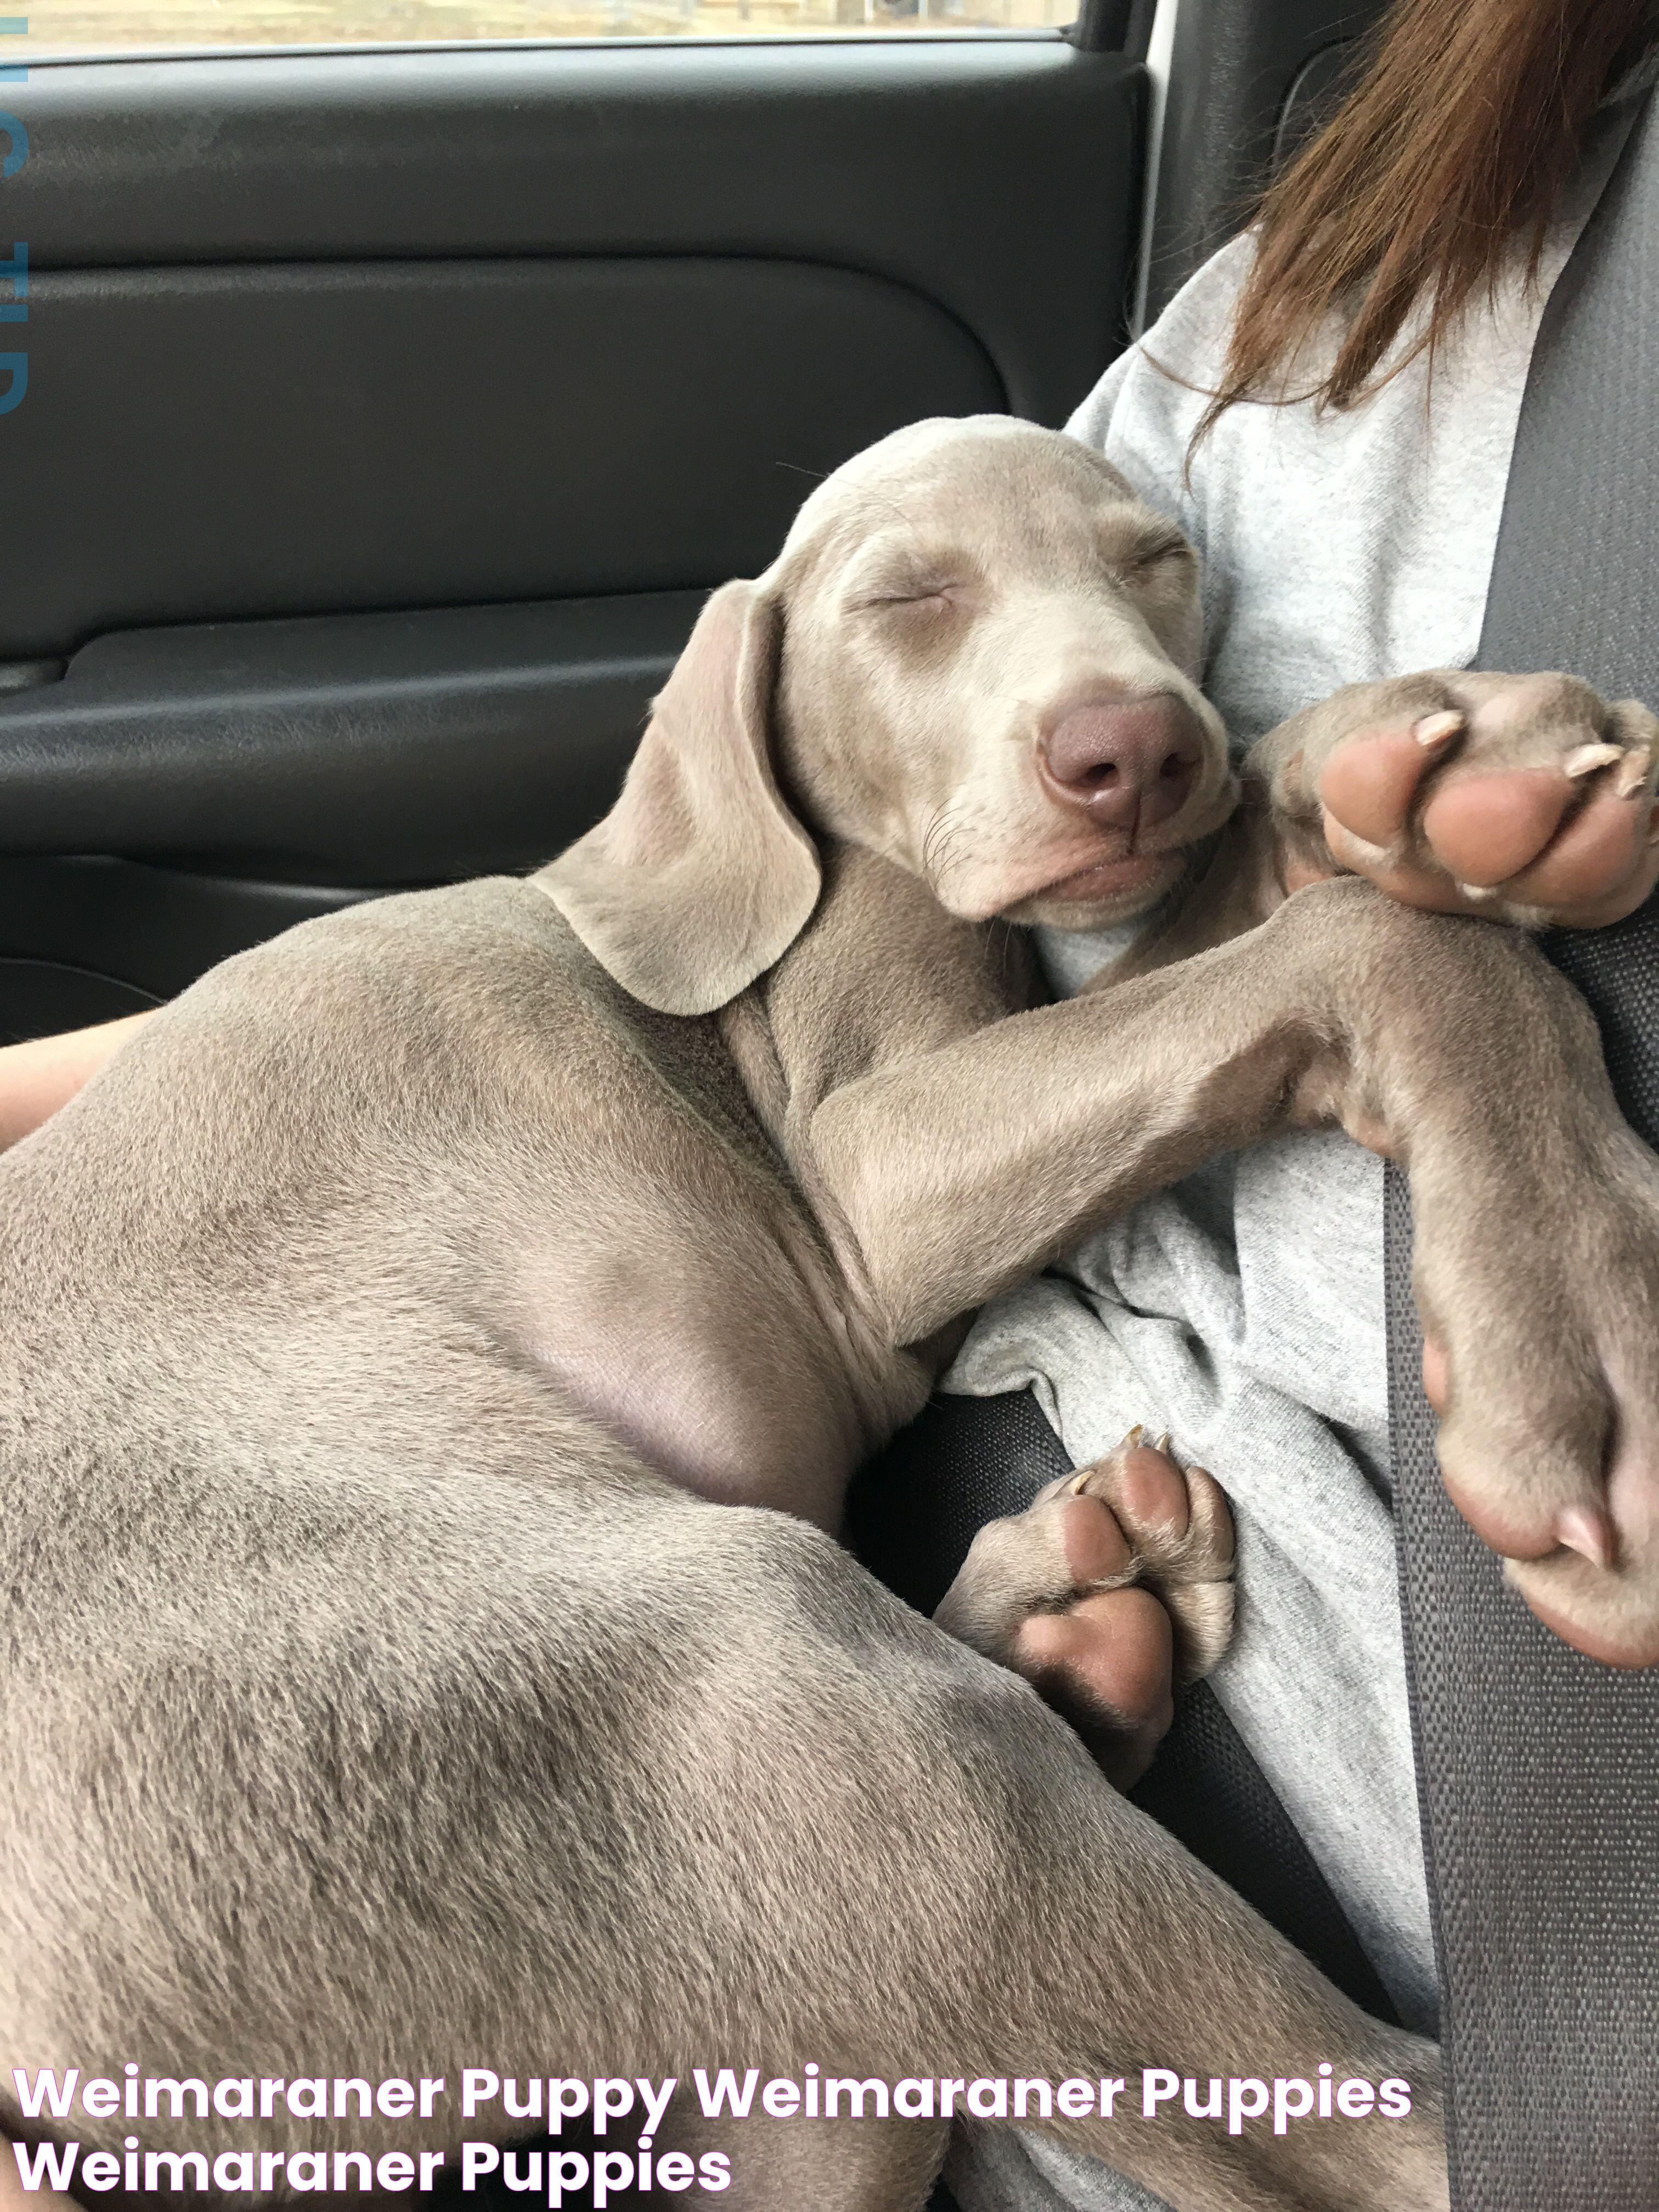
[(1360, 82), (1261, 199), (1199, 438), (1237, 400), (1279, 394), (1332, 312), (1340, 349), (1290, 396), (1345, 407), (1418, 301), (1422, 336), (1389, 376), (1433, 356), (1517, 241), (1535, 276), (1584, 126), (1657, 18), (1655, 0), (1396, 0)]

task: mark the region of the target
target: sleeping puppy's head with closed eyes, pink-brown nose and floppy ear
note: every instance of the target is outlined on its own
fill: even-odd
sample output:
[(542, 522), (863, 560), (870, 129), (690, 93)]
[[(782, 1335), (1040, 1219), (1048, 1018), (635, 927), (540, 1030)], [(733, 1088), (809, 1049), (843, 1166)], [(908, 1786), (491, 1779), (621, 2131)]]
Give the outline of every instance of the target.
[(712, 595), (617, 805), (540, 880), (664, 1013), (783, 956), (821, 836), (969, 920), (1126, 920), (1239, 796), (1197, 664), (1192, 549), (1097, 453), (1002, 416), (920, 422)]

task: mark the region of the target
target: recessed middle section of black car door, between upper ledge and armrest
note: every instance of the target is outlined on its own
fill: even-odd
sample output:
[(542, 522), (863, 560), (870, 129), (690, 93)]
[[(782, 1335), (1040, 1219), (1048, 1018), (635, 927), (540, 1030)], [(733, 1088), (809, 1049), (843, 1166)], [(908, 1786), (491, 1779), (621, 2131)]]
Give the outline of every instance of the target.
[(24, 657), (752, 575), (847, 453), (1009, 398), (907, 285), (699, 254), (46, 274), (29, 405)]

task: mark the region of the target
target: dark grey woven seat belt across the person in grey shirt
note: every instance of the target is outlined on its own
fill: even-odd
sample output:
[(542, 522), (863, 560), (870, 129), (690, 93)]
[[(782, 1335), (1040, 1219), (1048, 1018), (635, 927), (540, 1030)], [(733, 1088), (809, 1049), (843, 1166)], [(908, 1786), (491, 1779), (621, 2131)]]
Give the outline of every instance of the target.
[[(1659, 706), (1659, 106), (1555, 283), (1520, 416), (1478, 668)], [(1546, 938), (1659, 1144), (1659, 905)], [(1444, 1495), (1409, 1201), (1389, 1172), (1389, 1385), (1407, 1666), (1458, 2212), (1659, 2208), (1659, 1670), (1571, 1652)], [(1652, 1347), (1659, 1363), (1659, 1343)]]

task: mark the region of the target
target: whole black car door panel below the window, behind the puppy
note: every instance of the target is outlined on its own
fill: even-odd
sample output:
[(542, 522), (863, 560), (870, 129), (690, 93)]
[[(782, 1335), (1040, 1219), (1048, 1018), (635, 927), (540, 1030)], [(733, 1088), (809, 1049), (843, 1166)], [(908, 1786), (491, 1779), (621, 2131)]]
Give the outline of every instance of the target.
[(818, 476), (1064, 420), (1124, 341), (1146, 73), (1055, 35), (64, 62), (15, 104), (9, 1033), (555, 852)]

